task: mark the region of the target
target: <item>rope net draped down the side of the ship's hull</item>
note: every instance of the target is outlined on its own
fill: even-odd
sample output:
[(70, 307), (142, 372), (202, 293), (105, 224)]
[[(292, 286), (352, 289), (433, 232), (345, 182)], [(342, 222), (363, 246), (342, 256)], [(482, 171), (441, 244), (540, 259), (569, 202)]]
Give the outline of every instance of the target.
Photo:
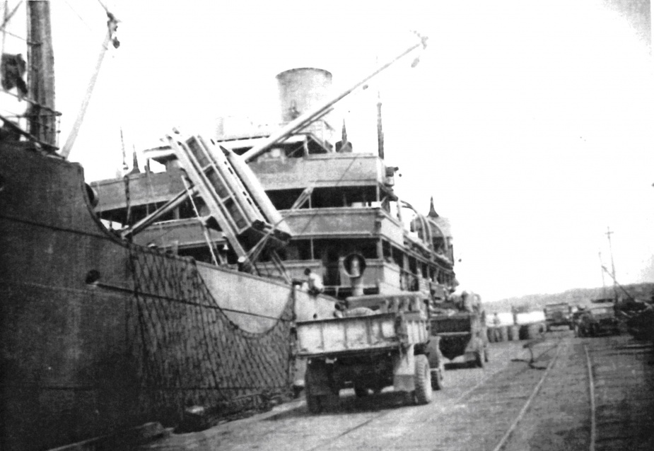
[(208, 427), (269, 409), (291, 393), (290, 294), (281, 317), (267, 318), (271, 327), (255, 334), (218, 306), (192, 259), (139, 250), (131, 262), (127, 336), (138, 367), (141, 418), (183, 425), (189, 411), (202, 411)]

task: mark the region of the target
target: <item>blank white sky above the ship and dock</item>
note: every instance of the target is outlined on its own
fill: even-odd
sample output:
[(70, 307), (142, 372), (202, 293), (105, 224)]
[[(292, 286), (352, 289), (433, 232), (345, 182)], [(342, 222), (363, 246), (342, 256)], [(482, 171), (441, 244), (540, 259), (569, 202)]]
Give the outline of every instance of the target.
[[(449, 218), (462, 287), (492, 301), (602, 286), (607, 228), (617, 280), (654, 281), (650, 40), (605, 1), (51, 3), (60, 144), (100, 53), (104, 6), (121, 21), (69, 157), (87, 180), (121, 168), (121, 130), (129, 155), (171, 127), (278, 122), (276, 74), (327, 69), (338, 90), (413, 45), (413, 30), (428, 36), (420, 64), (396, 64), (334, 115), (355, 151), (376, 152), (380, 91), (396, 192), (424, 213), (433, 197)], [(4, 39), (6, 51), (21, 44)]]

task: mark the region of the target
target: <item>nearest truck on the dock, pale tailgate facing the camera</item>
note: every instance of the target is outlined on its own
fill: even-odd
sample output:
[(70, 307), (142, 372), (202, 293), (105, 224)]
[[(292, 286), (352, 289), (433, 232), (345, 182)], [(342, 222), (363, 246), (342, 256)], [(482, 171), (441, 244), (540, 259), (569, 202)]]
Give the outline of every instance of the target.
[[(305, 395), (318, 413), (333, 405), (343, 388), (356, 396), (392, 385), (431, 401), (443, 381), (443, 359), (428, 358), (428, 308), (419, 295), (363, 295), (346, 300), (343, 317), (296, 324), (298, 356), (307, 358)], [(436, 337), (438, 340), (438, 337)], [(436, 347), (438, 349), (438, 346)], [(432, 373), (433, 377), (432, 377)]]

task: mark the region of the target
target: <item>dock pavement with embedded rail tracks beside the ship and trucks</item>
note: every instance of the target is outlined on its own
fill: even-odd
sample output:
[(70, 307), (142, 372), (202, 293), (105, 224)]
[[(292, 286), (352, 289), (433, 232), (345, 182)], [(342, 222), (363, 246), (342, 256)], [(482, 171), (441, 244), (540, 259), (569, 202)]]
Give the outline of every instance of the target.
[(450, 364), (445, 387), (424, 406), (392, 390), (359, 398), (346, 389), (320, 415), (298, 400), (154, 449), (654, 449), (652, 344), (571, 332), (545, 338), (531, 353), (526, 341), (493, 344), (486, 368)]

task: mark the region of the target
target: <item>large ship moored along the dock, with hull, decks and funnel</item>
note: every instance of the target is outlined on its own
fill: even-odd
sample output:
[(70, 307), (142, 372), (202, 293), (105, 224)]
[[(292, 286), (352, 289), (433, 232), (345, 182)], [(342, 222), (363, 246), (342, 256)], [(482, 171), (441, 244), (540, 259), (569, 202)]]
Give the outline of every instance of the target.
[[(288, 71), (281, 128), (171, 131), (146, 151), (165, 171), (88, 182), (56, 143), (49, 3), (28, 11), (40, 42), (28, 67), (42, 76), (20, 93), (27, 127), (0, 118), (4, 450), (173, 426), (194, 406), (214, 418), (267, 409), (298, 380), (296, 320), (332, 316), (352, 294), (438, 299), (455, 286), (447, 221), (432, 209), (405, 227), (402, 211), (415, 210), (381, 144), (357, 153), (345, 131), (335, 144), (322, 134), (325, 105), (424, 40), (324, 105), (326, 71)], [(307, 270), (322, 293), (303, 286)]]

